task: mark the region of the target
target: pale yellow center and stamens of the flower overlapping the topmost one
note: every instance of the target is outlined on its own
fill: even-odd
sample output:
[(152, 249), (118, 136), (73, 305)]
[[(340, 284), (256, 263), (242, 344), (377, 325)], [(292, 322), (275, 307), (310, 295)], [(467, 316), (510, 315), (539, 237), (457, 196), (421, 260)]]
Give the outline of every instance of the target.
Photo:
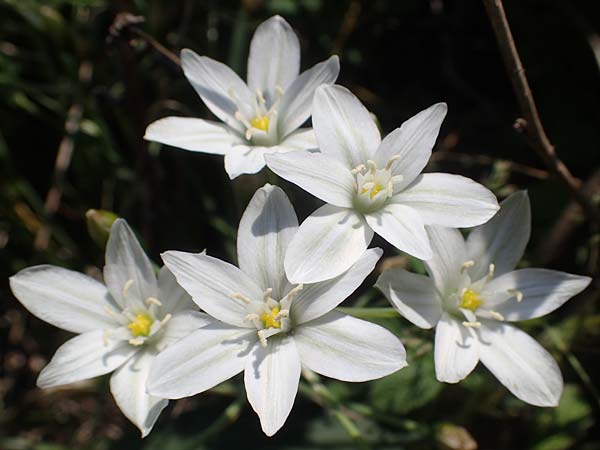
[(352, 174), (356, 175), (355, 206), (359, 211), (373, 212), (394, 195), (394, 184), (402, 180), (402, 175), (392, 175), (391, 166), (395, 159), (390, 159), (383, 169), (378, 169), (371, 160), (352, 169)]

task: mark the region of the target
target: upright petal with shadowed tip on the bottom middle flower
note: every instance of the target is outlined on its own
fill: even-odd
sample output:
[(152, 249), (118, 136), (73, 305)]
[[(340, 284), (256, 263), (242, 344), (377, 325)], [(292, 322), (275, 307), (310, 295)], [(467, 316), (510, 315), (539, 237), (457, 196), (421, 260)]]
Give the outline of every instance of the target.
[(283, 260), (298, 230), (294, 207), (277, 186), (256, 191), (238, 228), (237, 253), (240, 269), (271, 296), (281, 298), (288, 286)]

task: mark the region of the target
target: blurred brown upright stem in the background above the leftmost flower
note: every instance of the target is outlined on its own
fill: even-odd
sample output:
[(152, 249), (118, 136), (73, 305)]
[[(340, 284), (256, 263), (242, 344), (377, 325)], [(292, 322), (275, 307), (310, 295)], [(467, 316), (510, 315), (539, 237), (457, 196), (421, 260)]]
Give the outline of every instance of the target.
[[(92, 78), (92, 66), (89, 62), (84, 61), (79, 66), (79, 81), (85, 85)], [(67, 118), (65, 120), (65, 135), (60, 141), (58, 146), (58, 152), (56, 154), (56, 161), (54, 163), (54, 173), (52, 176), (52, 186), (48, 190), (46, 195), (46, 201), (44, 203), (45, 220), (44, 224), (38, 229), (35, 235), (34, 248), (37, 251), (44, 251), (48, 248), (50, 237), (52, 235), (52, 229), (50, 222), (52, 217), (58, 211), (60, 207), (60, 201), (62, 199), (62, 193), (65, 182), (65, 175), (69, 166), (71, 165), (71, 159), (73, 157), (74, 150), (74, 138), (79, 132), (79, 125), (83, 115), (83, 105), (81, 103), (74, 103), (69, 108)]]

